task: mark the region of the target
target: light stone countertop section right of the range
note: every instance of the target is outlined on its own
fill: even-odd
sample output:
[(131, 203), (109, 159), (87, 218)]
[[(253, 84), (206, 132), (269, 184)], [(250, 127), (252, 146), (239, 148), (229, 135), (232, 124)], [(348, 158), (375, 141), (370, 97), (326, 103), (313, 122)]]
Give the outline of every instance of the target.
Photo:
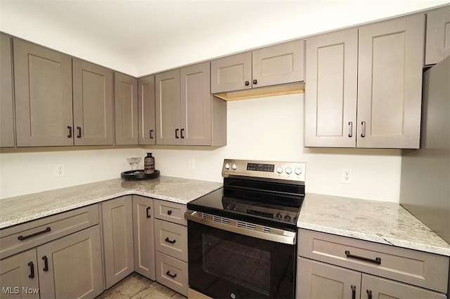
[(450, 244), (392, 202), (307, 193), (297, 227), (450, 256)]

